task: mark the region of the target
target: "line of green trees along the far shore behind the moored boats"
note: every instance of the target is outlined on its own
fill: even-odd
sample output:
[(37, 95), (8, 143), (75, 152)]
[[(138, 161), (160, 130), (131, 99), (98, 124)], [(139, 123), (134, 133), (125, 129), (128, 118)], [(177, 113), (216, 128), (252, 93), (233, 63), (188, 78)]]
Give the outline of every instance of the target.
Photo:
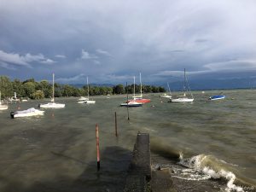
[[(143, 93), (166, 91), (165, 88), (160, 86), (143, 85), (142, 87)], [(87, 96), (87, 89), (88, 87), (86, 84), (82, 88), (78, 88), (70, 84), (55, 83), (55, 97)], [(90, 96), (125, 94), (127, 90), (129, 94), (132, 94), (134, 92), (134, 84), (128, 86), (117, 84), (113, 87), (89, 85)], [(16, 92), (18, 98), (44, 99), (52, 96), (52, 84), (50, 84), (48, 80), (37, 82), (34, 79), (26, 79), (25, 81), (14, 79), (11, 81), (7, 76), (0, 76), (0, 91), (2, 93), (2, 98), (12, 97)], [(140, 93), (140, 85), (138, 84), (135, 84), (135, 93)]]

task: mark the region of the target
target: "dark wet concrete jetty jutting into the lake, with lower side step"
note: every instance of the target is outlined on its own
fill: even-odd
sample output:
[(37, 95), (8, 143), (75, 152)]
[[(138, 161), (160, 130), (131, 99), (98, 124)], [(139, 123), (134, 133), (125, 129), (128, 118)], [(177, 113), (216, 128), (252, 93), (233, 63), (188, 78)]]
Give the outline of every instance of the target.
[(151, 168), (148, 133), (138, 133), (124, 192), (175, 192), (169, 170)]

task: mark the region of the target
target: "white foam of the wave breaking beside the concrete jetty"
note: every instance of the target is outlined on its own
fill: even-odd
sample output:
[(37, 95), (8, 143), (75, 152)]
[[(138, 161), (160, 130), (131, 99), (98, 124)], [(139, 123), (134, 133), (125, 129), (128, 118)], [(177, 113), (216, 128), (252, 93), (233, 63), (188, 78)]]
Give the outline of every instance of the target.
[[(183, 172), (186, 172), (186, 174), (181, 173), (181, 175), (186, 175), (186, 177), (178, 177), (181, 179), (186, 179), (186, 180), (207, 180), (209, 178), (225, 178), (228, 180), (227, 183), (227, 188), (225, 191), (231, 192), (231, 191), (236, 191), (236, 192), (245, 192), (241, 187), (236, 186), (234, 184), (236, 180), (236, 175), (233, 172), (225, 171), (224, 169), (218, 169), (218, 167), (211, 167), (208, 166), (208, 160), (212, 159), (212, 156), (210, 155), (205, 155), (205, 154), (199, 154), (196, 156), (193, 156), (189, 159), (183, 159), (183, 155), (180, 155), (180, 161), (178, 164), (182, 166), (186, 166), (189, 169), (183, 170)], [(212, 160), (219, 161), (215, 158)], [(189, 173), (189, 174), (187, 174)], [(203, 175), (202, 175), (202, 174)], [(189, 177), (187, 177), (189, 175)]]

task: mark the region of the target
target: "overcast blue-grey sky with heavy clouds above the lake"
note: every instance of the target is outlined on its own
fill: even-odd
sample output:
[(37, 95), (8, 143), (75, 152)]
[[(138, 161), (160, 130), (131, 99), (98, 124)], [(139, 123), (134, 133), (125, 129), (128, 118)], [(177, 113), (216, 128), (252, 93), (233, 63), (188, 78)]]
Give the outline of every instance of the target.
[(0, 0), (0, 75), (59, 83), (256, 76), (255, 0)]

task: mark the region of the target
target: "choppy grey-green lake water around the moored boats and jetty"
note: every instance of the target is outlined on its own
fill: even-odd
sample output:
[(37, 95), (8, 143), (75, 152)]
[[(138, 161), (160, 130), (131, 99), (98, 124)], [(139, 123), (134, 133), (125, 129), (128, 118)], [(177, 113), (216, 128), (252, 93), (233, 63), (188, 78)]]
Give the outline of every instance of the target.
[(125, 96), (96, 96), (95, 105), (57, 99), (66, 108), (23, 119), (10, 119), (10, 111), (38, 102), (10, 104), (0, 112), (0, 191), (122, 191), (138, 131), (150, 134), (153, 168), (171, 167), (181, 191), (254, 191), (256, 90), (225, 90), (225, 100), (207, 101), (213, 94), (194, 92), (193, 103), (148, 95), (152, 102), (129, 108), (130, 121), (119, 107)]

